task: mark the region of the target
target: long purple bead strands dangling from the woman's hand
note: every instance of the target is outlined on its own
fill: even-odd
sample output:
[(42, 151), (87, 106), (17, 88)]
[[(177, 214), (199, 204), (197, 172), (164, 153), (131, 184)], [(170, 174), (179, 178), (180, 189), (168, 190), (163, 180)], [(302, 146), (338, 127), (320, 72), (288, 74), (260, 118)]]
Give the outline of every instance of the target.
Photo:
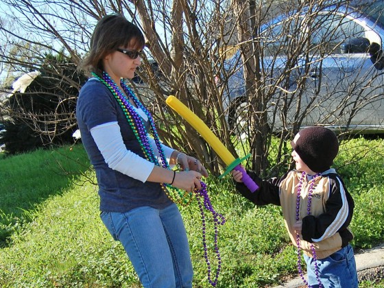
[[(200, 208), (200, 215), (202, 217), (202, 238), (203, 238), (203, 248), (204, 248), (204, 258), (206, 261), (207, 265), (207, 270), (208, 270), (208, 282), (215, 287), (217, 285), (217, 279), (219, 278), (220, 270), (221, 270), (221, 257), (220, 257), (220, 252), (219, 252), (219, 246), (217, 245), (217, 236), (219, 234), (218, 232), (218, 225), (224, 225), (226, 222), (226, 219), (223, 215), (217, 213), (215, 209), (213, 208), (211, 204), (211, 200), (209, 199), (208, 192), (206, 191), (206, 184), (202, 181), (200, 181), (202, 185), (202, 189), (195, 189), (195, 195), (197, 199), (197, 204), (199, 205)], [(203, 198), (203, 204), (202, 200)], [(205, 221), (205, 214), (204, 214), (204, 208), (211, 212), (213, 215), (213, 226), (215, 230), (215, 236), (214, 236), (214, 250), (216, 254), (216, 259), (217, 259), (217, 269), (216, 269), (216, 274), (215, 274), (215, 280), (211, 279), (211, 262), (208, 259), (208, 248), (206, 247), (206, 221)]]

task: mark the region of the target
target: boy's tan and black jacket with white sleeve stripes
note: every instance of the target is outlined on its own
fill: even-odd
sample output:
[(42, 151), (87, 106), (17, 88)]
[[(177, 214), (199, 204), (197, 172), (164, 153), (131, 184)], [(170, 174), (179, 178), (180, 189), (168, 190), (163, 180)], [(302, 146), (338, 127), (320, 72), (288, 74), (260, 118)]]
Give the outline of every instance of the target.
[[(237, 183), (237, 190), (256, 205), (281, 206), (289, 237), (292, 243), (297, 245), (293, 225), (296, 223), (298, 184), (302, 173), (292, 170), (281, 178), (269, 180), (263, 180), (252, 172), (248, 172), (248, 174), (259, 185), (259, 189), (251, 193), (243, 183)], [(307, 215), (311, 181), (304, 178), (300, 193), (298, 209), (299, 219), (302, 219), (300, 248), (305, 254), (312, 257), (311, 244), (313, 243), (317, 259), (324, 259), (348, 245), (353, 239), (348, 226), (355, 204), (335, 169), (328, 169), (315, 178), (311, 215)]]

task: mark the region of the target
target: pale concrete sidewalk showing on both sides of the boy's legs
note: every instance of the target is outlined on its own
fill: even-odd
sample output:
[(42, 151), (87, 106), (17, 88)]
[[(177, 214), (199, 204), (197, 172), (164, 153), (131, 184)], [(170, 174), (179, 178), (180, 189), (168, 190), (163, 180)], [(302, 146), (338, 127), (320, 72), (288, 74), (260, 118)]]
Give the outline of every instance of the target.
[[(359, 280), (373, 280), (379, 276), (384, 278), (384, 244), (372, 249), (356, 252), (355, 259)], [(298, 287), (304, 287), (304, 283), (300, 276), (274, 288)]]

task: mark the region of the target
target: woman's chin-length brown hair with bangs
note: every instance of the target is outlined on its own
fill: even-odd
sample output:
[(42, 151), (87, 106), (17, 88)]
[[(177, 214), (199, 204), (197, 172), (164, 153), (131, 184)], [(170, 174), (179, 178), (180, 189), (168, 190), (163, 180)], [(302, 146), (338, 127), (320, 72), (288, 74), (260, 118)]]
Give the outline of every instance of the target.
[(128, 44), (132, 44), (131, 41), (136, 49), (143, 49), (145, 38), (139, 27), (121, 14), (104, 16), (97, 22), (91, 37), (89, 54), (79, 68), (101, 76), (104, 70), (103, 58), (119, 47), (127, 47)]

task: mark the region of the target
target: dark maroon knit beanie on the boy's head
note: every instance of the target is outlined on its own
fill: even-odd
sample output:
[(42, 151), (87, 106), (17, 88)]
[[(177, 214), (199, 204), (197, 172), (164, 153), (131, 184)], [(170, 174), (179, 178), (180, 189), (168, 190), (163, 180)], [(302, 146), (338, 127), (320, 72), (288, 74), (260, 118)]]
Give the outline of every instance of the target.
[(299, 131), (291, 145), (313, 172), (329, 169), (339, 152), (339, 141), (335, 133), (320, 126)]

